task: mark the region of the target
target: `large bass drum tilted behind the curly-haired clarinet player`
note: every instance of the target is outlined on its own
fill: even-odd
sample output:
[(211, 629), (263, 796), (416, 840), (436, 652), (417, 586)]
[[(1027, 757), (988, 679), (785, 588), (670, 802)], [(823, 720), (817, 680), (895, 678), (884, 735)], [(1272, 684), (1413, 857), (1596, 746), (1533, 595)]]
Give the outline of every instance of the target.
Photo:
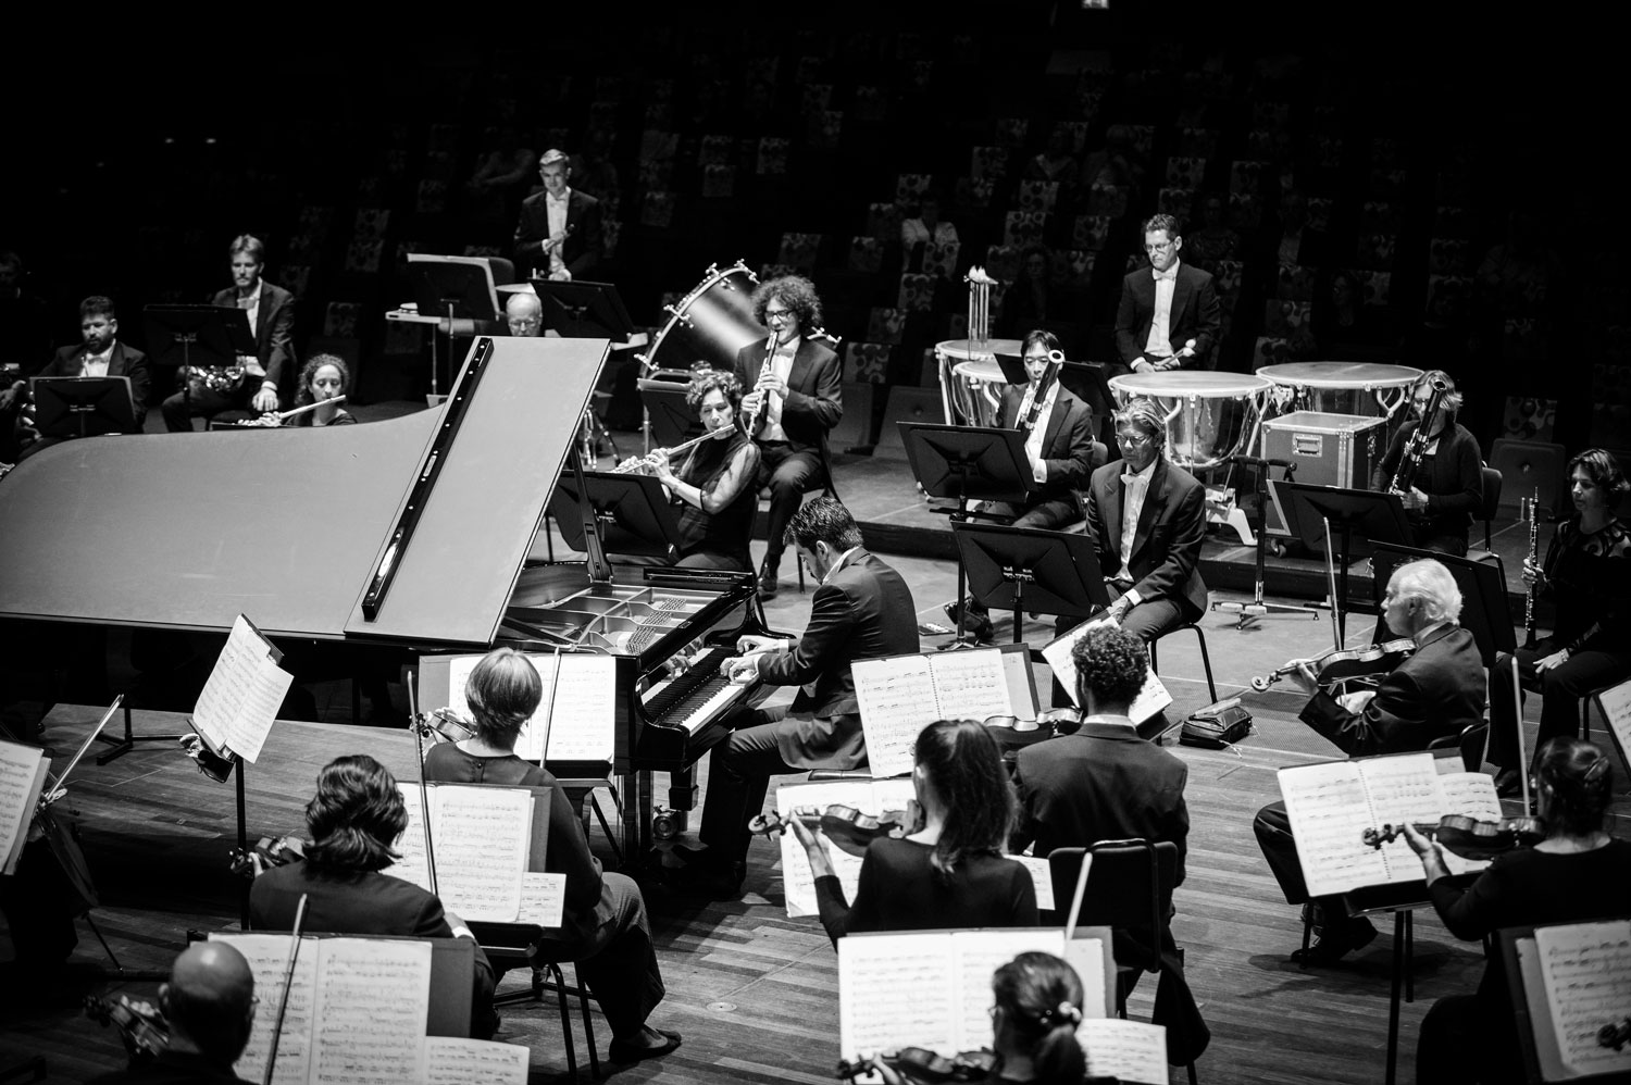
[(742, 261), (724, 271), (709, 264), (696, 289), (678, 305), (665, 307), (669, 321), (639, 359), (641, 377), (683, 383), (696, 362), (726, 372), (736, 369), (744, 346), (770, 338), (770, 330), (754, 320), (755, 286), (758, 276)]

